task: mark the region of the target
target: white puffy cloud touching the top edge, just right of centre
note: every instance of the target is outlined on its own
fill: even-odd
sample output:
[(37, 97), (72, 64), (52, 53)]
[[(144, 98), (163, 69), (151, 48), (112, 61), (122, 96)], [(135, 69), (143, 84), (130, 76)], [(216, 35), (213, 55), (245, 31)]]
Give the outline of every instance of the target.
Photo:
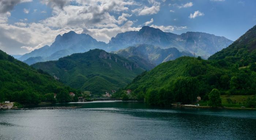
[(153, 15), (155, 13), (158, 13), (160, 11), (160, 3), (155, 0), (149, 0), (150, 4), (153, 4), (151, 7), (144, 6), (142, 8), (133, 9), (133, 13), (138, 13), (139, 16), (142, 15)]

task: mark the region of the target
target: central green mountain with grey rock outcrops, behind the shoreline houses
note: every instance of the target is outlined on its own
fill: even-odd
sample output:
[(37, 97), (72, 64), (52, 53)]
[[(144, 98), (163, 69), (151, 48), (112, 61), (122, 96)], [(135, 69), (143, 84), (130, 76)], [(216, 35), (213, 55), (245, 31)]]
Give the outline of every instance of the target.
[(32, 66), (55, 75), (73, 88), (88, 90), (93, 94), (117, 90), (144, 71), (135, 62), (99, 49)]

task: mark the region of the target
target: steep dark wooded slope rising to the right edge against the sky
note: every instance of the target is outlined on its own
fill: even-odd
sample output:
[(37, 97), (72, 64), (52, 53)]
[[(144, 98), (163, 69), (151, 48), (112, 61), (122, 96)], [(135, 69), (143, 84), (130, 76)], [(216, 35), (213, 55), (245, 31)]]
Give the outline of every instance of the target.
[(248, 30), (229, 47), (212, 55), (209, 60), (225, 59), (230, 63), (248, 66), (256, 62), (256, 26)]

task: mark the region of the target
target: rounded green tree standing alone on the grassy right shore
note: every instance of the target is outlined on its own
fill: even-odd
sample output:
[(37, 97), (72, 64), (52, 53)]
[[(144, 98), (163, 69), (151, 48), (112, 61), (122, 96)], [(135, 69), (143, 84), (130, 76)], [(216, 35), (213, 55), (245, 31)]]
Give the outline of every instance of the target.
[(209, 97), (209, 105), (212, 107), (221, 106), (221, 93), (218, 89), (212, 89), (212, 91), (208, 95)]

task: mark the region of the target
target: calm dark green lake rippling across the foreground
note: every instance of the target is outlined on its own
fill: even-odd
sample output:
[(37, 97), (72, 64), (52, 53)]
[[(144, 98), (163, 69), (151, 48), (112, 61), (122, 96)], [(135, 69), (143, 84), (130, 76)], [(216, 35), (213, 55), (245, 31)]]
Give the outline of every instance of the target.
[[(53, 105), (43, 105), (53, 106)], [(256, 111), (157, 108), (143, 102), (0, 111), (0, 140), (255, 140)]]

